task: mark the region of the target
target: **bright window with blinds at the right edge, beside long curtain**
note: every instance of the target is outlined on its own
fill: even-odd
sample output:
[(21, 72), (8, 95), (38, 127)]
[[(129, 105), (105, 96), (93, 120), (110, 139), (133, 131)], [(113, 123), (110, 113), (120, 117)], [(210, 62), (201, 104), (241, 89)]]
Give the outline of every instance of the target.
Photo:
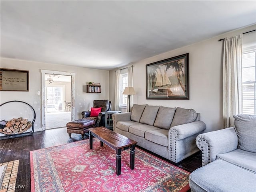
[(256, 49), (242, 54), (242, 113), (256, 115)]

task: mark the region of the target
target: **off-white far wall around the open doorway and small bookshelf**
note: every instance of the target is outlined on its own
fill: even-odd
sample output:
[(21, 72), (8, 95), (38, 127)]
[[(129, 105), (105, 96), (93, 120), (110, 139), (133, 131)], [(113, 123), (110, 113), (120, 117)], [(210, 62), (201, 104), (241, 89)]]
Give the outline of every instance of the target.
[[(82, 67), (72, 67), (66, 65), (56, 65), (39, 63), (32, 61), (23, 61), (17, 59), (1, 58), (1, 68), (20, 69), (29, 71), (29, 92), (1, 91), (0, 103), (11, 100), (20, 100), (30, 104), (36, 111), (36, 121), (34, 130), (42, 130), (42, 96), (37, 95), (37, 91), (42, 90), (41, 70), (65, 71), (75, 73), (75, 119), (82, 118), (81, 112), (88, 110), (92, 106), (93, 100), (109, 99), (109, 71), (88, 69)], [(97, 82), (101, 84), (101, 93), (86, 93), (86, 84), (88, 82)], [(10, 108), (10, 110), (12, 110)], [(1, 111), (0, 120), (3, 120), (4, 112)], [(15, 117), (10, 117), (15, 118)], [(25, 118), (25, 117), (24, 117)], [(8, 120), (8, 119), (6, 119)]]

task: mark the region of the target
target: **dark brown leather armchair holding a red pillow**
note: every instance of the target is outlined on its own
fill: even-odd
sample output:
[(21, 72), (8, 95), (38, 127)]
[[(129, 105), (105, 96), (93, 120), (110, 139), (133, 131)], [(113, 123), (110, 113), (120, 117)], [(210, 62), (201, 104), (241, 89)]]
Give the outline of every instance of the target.
[(105, 126), (105, 112), (111, 109), (111, 101), (108, 100), (94, 100), (92, 104), (93, 108), (102, 107), (98, 117), (90, 117), (90, 111), (83, 111), (82, 118), (95, 121), (95, 127)]

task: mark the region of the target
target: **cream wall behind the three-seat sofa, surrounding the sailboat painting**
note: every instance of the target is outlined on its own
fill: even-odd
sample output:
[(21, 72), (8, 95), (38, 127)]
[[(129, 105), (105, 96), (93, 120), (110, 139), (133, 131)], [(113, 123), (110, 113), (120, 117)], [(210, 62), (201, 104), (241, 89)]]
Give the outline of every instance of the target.
[[(162, 105), (167, 107), (193, 108), (201, 114), (206, 131), (222, 128), (222, 49), (228, 36), (256, 29), (252, 25), (222, 34), (218, 37), (169, 51), (154, 57), (132, 63), (134, 65), (134, 104)], [(244, 42), (256, 42), (256, 33), (244, 35)], [(190, 100), (146, 100), (146, 65), (189, 53), (189, 95)], [(110, 100), (114, 101), (115, 70), (110, 71)]]

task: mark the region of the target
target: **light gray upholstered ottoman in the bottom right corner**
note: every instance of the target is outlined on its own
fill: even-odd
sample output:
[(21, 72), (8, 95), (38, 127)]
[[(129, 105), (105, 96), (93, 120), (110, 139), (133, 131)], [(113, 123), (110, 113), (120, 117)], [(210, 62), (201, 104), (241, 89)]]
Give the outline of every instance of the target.
[(194, 170), (192, 192), (255, 192), (256, 174), (220, 159)]

